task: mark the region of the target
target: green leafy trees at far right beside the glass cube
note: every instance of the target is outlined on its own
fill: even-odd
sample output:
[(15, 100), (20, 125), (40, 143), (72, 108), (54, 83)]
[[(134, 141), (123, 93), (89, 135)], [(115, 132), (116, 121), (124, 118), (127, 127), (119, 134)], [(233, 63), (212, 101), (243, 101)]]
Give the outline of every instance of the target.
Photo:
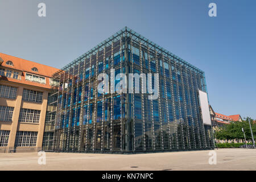
[(253, 123), (253, 119), (247, 117), (245, 121), (231, 122), (229, 125), (222, 127), (220, 130), (216, 131), (215, 138), (220, 140), (233, 140), (233, 139), (244, 139), (243, 131), (245, 131), (246, 140), (251, 140), (251, 131), (249, 126), (249, 120), (251, 122), (251, 130), (253, 130), (254, 140), (256, 139), (256, 123)]

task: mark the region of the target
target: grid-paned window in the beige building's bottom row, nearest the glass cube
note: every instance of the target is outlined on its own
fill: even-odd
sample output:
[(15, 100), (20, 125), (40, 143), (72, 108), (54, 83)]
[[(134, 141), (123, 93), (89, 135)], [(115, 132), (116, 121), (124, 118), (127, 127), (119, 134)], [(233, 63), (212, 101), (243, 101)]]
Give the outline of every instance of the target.
[(36, 146), (36, 131), (18, 131), (15, 139), (15, 147), (33, 147)]

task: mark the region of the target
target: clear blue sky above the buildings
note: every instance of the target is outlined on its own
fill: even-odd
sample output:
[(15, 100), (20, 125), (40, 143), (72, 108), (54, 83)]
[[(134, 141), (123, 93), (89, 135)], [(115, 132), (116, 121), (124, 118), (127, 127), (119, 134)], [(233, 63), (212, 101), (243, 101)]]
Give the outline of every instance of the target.
[[(46, 3), (46, 17), (38, 4)], [(208, 5), (217, 5), (209, 17)], [(205, 72), (217, 113), (256, 118), (256, 1), (0, 0), (0, 52), (62, 68), (127, 26)]]

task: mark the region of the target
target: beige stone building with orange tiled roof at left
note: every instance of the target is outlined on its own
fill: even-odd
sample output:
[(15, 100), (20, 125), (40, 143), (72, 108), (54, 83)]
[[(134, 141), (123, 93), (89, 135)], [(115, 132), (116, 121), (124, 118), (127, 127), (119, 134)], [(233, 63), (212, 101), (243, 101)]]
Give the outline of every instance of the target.
[(41, 150), (51, 76), (56, 71), (0, 53), (0, 152)]

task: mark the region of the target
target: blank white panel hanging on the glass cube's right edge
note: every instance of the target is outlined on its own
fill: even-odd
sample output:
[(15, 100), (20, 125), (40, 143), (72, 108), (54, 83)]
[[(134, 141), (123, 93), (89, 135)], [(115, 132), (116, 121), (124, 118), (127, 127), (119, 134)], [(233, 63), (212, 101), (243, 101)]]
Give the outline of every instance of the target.
[(198, 92), (203, 123), (205, 125), (212, 125), (212, 122), (210, 121), (210, 109), (208, 105), (207, 93), (201, 90), (198, 90)]

